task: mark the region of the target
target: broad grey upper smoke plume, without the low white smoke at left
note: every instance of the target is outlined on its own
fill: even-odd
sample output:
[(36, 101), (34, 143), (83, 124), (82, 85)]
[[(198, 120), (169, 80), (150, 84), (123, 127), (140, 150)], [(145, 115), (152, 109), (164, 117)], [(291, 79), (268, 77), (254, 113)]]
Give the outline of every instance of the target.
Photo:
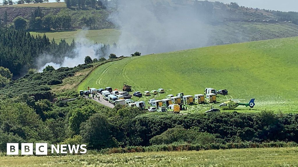
[(192, 6), (173, 7), (168, 1), (118, 0), (110, 20), (120, 27), (117, 55), (143, 55), (206, 45), (207, 31)]

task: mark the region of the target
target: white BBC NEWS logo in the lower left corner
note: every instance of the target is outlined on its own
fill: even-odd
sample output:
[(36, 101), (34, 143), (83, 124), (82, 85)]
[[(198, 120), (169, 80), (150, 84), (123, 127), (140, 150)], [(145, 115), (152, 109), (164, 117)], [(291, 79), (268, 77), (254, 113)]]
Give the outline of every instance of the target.
[[(19, 155), (19, 144), (18, 143), (7, 143), (7, 155)], [(21, 155), (33, 155), (33, 143), (22, 143), (21, 144)], [(57, 154), (85, 154), (87, 152), (86, 144), (82, 145), (51, 145), (51, 153)], [(36, 143), (35, 144), (35, 155), (48, 155), (48, 144), (47, 143)]]

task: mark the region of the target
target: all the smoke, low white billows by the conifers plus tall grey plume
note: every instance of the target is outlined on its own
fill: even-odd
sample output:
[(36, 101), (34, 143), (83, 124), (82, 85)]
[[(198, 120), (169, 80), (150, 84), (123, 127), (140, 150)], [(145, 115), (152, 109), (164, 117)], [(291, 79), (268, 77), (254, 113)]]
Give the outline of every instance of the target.
[[(110, 1), (111, 2), (111, 1)], [(113, 1), (114, 2), (114, 1)], [(92, 59), (116, 53), (130, 56), (135, 51), (142, 55), (162, 53), (207, 45), (208, 33), (193, 5), (169, 4), (165, 0), (117, 0), (109, 20), (121, 30), (117, 47), (111, 47), (105, 54), (98, 54), (101, 44), (93, 44), (81, 31), (71, 53), (60, 58), (44, 54), (38, 59), (39, 71), (47, 65), (54, 68), (74, 67), (84, 63), (85, 56)], [(114, 3), (110, 3), (114, 4)], [(175, 6), (176, 5), (176, 6)], [(112, 9), (112, 7), (110, 7)], [(206, 26), (205, 26), (206, 27)]]

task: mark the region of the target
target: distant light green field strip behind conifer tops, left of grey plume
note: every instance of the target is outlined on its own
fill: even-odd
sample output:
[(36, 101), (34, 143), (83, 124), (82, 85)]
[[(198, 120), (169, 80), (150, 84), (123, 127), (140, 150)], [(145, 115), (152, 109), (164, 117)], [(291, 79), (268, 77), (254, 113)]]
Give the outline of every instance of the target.
[(113, 44), (117, 42), (121, 32), (116, 29), (102, 29), (102, 30), (65, 30), (65, 31), (40, 31), (40, 32), (30, 32), (32, 35), (43, 35), (52, 40), (53, 38), (57, 43), (61, 39), (65, 39), (66, 42), (71, 43), (72, 39), (75, 39), (76, 42), (80, 42), (85, 38), (91, 42), (104, 43), (104, 44)]

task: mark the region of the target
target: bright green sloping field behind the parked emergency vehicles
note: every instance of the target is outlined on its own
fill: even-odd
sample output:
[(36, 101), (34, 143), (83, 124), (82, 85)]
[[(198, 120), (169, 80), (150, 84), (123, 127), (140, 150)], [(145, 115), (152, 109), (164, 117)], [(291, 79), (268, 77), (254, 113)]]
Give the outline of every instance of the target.
[[(131, 57), (98, 67), (77, 90), (87, 86), (121, 89), (124, 81), (133, 91), (165, 89), (164, 94), (141, 98), (147, 101), (179, 92), (202, 94), (206, 87), (212, 87), (229, 90), (229, 95), (219, 95), (218, 100), (246, 99), (241, 101), (247, 103), (256, 98), (252, 110), (240, 106), (236, 111), (297, 112), (297, 45), (294, 37)], [(193, 105), (187, 112), (209, 107)]]

